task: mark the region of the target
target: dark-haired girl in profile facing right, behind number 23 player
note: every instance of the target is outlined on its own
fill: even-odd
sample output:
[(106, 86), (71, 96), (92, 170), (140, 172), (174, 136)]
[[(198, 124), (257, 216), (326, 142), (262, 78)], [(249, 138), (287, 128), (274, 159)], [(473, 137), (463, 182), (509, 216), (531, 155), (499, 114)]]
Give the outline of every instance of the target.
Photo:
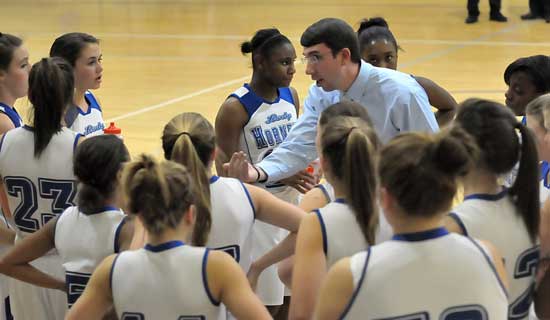
[(73, 32), (55, 39), (51, 57), (67, 60), (74, 69), (74, 105), (67, 110), (67, 127), (84, 136), (103, 134), (103, 113), (90, 90), (99, 89), (103, 76), (101, 48), (94, 36)]

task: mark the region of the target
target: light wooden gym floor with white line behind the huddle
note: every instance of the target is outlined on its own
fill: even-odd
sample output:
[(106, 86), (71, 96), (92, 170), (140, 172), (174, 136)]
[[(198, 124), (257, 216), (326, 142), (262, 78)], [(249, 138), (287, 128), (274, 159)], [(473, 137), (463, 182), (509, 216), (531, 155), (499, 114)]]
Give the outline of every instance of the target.
[[(62, 33), (100, 38), (104, 57), (99, 97), (106, 121), (123, 129), (132, 154), (161, 156), (160, 134), (174, 115), (195, 111), (214, 120), (225, 97), (251, 75), (239, 44), (264, 27), (299, 37), (323, 17), (354, 27), (363, 17), (383, 16), (404, 51), (401, 71), (447, 88), (458, 101), (471, 96), (504, 101), (503, 71), (514, 59), (550, 54), (550, 24), (523, 22), (527, 0), (503, 0), (508, 23), (465, 25), (465, 0), (0, 0), (0, 31), (24, 38), (36, 62)], [(311, 83), (297, 64), (292, 85), (303, 102)], [(17, 104), (28, 107), (25, 99)], [(24, 114), (26, 115), (26, 110)]]

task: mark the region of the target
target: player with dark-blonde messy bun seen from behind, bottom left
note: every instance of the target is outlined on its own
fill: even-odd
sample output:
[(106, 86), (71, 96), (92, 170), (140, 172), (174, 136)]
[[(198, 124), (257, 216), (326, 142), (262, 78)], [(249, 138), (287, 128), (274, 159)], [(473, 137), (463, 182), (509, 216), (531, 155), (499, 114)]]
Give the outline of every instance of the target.
[[(144, 248), (109, 256), (96, 269), (67, 319), (269, 319), (244, 272), (229, 255), (188, 245), (208, 237), (208, 210), (197, 210), (191, 174), (172, 161), (141, 156), (122, 177), (126, 208), (147, 230)], [(223, 305), (221, 305), (223, 303)]]

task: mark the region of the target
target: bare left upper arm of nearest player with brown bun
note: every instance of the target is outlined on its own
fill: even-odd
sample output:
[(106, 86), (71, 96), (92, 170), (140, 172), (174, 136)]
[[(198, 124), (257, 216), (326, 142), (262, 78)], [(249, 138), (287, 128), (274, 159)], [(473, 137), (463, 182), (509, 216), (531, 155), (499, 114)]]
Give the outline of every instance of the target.
[(353, 275), (350, 258), (338, 261), (330, 268), (319, 293), (314, 319), (340, 319), (353, 295)]

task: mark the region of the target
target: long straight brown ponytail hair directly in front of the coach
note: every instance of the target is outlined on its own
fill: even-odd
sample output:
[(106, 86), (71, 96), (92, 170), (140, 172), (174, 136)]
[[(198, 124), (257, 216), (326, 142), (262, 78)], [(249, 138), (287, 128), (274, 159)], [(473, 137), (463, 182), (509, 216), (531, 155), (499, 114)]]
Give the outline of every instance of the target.
[(357, 117), (338, 116), (320, 126), (321, 150), (328, 160), (327, 174), (340, 181), (368, 244), (378, 227), (376, 133)]

